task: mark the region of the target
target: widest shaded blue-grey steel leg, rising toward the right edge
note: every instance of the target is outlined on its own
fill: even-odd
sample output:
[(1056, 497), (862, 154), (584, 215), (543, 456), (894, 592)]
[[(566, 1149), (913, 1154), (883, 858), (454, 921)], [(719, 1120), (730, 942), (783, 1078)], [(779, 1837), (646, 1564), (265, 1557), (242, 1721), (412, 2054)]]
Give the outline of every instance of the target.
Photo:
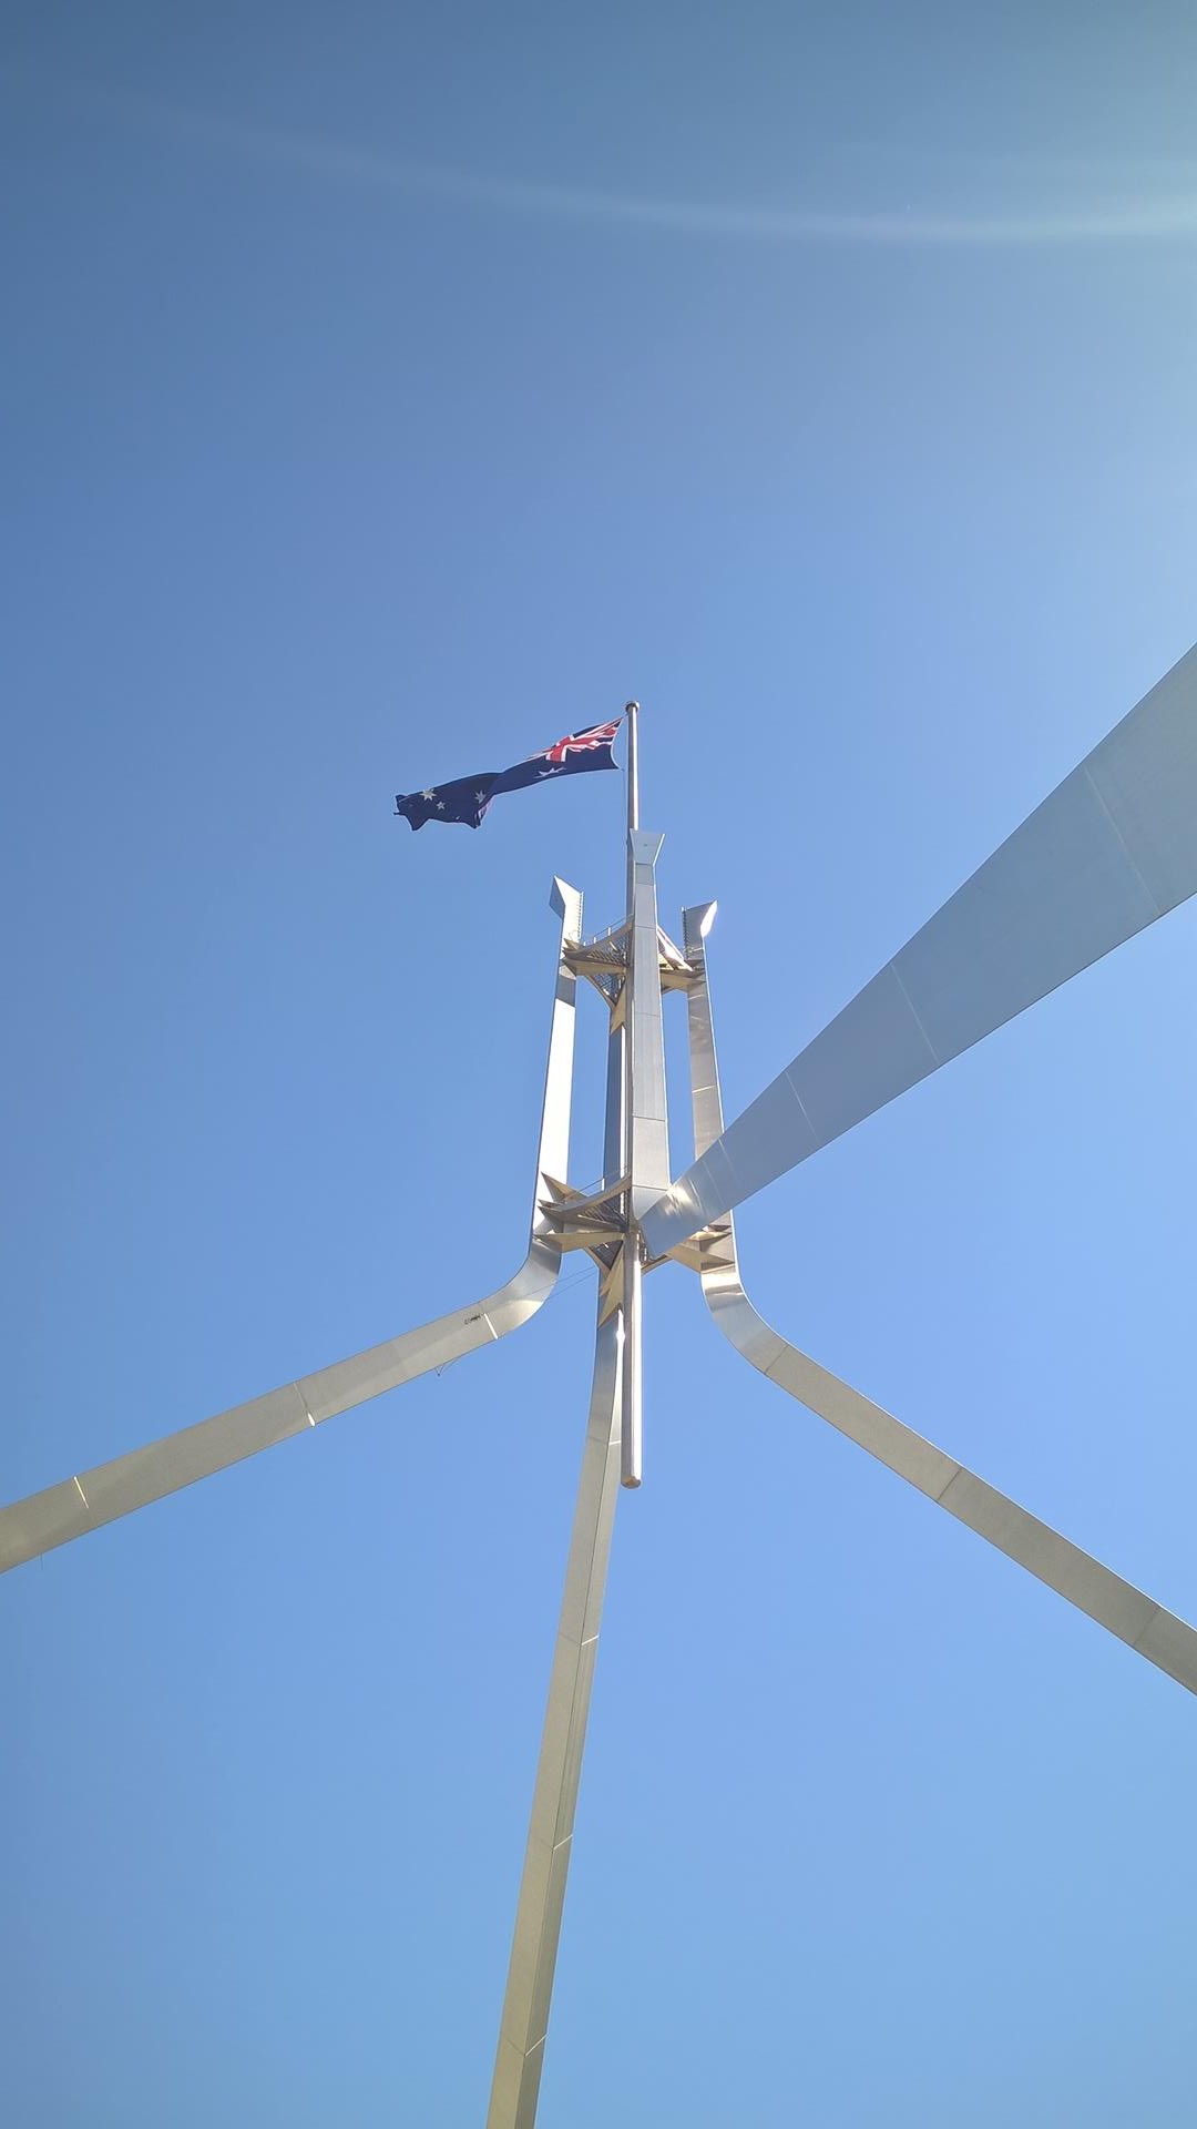
[(1197, 892), (1197, 647), (641, 1214), (665, 1256)]

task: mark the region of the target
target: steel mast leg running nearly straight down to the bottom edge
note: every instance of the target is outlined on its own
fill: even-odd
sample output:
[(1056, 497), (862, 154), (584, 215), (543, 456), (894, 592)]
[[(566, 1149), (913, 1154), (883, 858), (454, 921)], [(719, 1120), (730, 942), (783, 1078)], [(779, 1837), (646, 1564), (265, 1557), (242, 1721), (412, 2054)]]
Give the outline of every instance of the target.
[[(620, 1160), (622, 1088), (622, 1043), (616, 1035), (607, 1050), (607, 1169), (618, 1167)], [(564, 1882), (573, 1848), (573, 1814), (620, 1492), (624, 1350), (622, 1314), (605, 1316), (601, 1294), (581, 1482), (564, 1569), (564, 1597), (486, 2129), (532, 2129), (537, 2116)]]

